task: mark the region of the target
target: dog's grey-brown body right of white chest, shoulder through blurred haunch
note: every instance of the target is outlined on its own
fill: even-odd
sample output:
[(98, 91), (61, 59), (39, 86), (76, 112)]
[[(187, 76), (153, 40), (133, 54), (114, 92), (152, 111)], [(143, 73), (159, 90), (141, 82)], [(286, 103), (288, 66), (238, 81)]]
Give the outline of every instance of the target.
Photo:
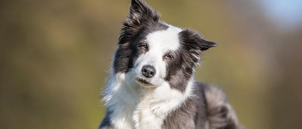
[(191, 97), (187, 98), (178, 110), (167, 116), (162, 129), (244, 129), (222, 88), (195, 82), (193, 91)]

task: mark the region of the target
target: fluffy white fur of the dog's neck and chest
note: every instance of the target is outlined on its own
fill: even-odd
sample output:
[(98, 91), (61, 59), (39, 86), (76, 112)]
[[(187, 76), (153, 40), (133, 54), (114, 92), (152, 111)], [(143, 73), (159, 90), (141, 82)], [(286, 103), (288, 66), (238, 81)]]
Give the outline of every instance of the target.
[(165, 117), (190, 97), (192, 81), (184, 93), (167, 82), (156, 88), (125, 83), (125, 74), (112, 76), (104, 101), (116, 129), (160, 129)]

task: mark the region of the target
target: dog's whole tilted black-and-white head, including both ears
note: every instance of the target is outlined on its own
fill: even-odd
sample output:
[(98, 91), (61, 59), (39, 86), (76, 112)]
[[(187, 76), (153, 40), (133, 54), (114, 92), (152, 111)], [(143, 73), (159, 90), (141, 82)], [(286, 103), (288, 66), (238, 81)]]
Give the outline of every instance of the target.
[(113, 72), (145, 87), (168, 82), (185, 90), (201, 53), (218, 46), (198, 32), (180, 29), (159, 20), (160, 14), (143, 0), (132, 0), (130, 15), (123, 23)]

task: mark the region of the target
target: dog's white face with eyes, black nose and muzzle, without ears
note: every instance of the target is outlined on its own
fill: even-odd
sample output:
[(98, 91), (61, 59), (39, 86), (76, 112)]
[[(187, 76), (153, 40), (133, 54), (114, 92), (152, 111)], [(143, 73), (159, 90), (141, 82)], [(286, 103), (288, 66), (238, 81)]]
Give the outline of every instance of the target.
[(132, 68), (137, 83), (149, 87), (165, 81), (171, 64), (179, 58), (178, 33), (181, 31), (171, 26), (151, 32), (137, 43), (137, 59), (133, 61)]

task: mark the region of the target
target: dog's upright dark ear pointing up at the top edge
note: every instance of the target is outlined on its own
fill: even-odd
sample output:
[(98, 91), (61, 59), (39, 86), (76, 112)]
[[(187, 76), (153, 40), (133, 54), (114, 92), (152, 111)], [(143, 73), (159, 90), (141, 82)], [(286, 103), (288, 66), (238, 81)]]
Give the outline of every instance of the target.
[(143, 22), (157, 22), (160, 14), (150, 7), (144, 0), (131, 0), (129, 22), (140, 24)]

